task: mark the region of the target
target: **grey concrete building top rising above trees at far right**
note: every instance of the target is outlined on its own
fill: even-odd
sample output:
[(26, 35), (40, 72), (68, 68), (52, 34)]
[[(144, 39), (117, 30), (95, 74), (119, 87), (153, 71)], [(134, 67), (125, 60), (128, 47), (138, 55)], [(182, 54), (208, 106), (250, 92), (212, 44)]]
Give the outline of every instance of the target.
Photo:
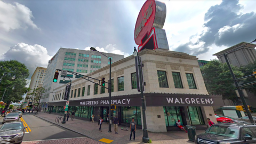
[(249, 63), (254, 62), (256, 60), (256, 51), (255, 51), (256, 45), (247, 44), (246, 46), (243, 46), (234, 51), (234, 49), (236, 49), (237, 47), (240, 47), (245, 44), (247, 43), (242, 42), (242, 43), (236, 44), (234, 46), (228, 47), (228, 49), (225, 49), (213, 55), (217, 56), (220, 62), (226, 63), (223, 53), (231, 52), (227, 54), (228, 60), (231, 65), (237, 66), (237, 67), (246, 66)]

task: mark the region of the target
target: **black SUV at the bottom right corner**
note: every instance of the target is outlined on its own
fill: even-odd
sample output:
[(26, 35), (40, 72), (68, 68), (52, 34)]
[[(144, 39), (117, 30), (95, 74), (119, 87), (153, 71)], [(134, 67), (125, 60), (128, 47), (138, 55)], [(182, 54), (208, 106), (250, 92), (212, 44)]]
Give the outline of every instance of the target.
[(203, 134), (195, 137), (197, 144), (245, 144), (256, 143), (256, 124), (220, 123), (214, 124)]

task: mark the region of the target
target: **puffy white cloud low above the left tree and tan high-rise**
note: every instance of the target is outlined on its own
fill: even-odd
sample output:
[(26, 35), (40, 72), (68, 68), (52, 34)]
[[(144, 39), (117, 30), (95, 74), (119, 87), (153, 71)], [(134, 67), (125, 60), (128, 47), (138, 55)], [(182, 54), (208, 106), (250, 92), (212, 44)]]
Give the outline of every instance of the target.
[(38, 44), (18, 43), (12, 46), (9, 51), (0, 55), (0, 60), (18, 60), (24, 63), (29, 69), (30, 76), (33, 75), (36, 67), (46, 68), (50, 59), (51, 56), (46, 48)]

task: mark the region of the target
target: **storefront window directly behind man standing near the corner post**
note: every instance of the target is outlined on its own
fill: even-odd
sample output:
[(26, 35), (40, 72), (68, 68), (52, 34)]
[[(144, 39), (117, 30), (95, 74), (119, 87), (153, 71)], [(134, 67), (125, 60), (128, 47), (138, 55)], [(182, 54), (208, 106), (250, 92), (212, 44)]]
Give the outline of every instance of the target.
[(140, 113), (140, 107), (122, 107), (122, 123), (127, 123), (128, 125), (131, 123), (132, 118), (134, 118), (134, 121), (141, 125), (141, 113)]

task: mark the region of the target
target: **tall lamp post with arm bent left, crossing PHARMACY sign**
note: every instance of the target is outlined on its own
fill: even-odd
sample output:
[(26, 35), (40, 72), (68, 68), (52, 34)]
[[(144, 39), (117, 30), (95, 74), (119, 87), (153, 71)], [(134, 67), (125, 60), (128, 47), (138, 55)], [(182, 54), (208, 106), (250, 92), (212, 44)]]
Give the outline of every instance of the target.
[[(94, 47), (90, 48), (91, 51), (97, 51)], [(99, 51), (97, 51), (99, 52)], [(101, 52), (99, 52), (101, 53)], [(104, 55), (105, 57), (107, 57), (107, 55), (101, 53), (102, 55)], [(111, 124), (110, 124), (110, 117), (111, 117), (111, 58), (107, 57), (109, 59), (109, 83), (108, 83), (108, 91), (109, 91), (109, 106), (108, 106), (108, 114), (109, 114), (109, 123), (108, 123), (108, 132), (111, 132)]]

